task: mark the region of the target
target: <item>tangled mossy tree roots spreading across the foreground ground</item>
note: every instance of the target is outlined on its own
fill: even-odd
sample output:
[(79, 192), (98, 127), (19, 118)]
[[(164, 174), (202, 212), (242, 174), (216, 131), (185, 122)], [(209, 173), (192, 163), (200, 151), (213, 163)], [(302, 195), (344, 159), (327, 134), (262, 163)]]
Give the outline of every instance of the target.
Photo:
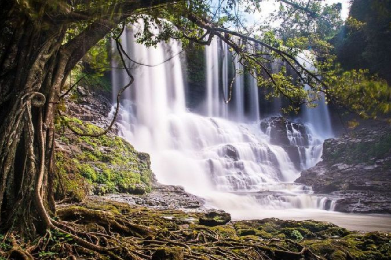
[[(106, 205), (104, 204), (106, 203)], [(14, 246), (13, 259), (324, 259), (289, 239), (262, 240), (232, 237), (221, 229), (183, 225), (165, 214), (122, 204), (87, 200), (83, 206), (59, 206), (59, 220), (35, 244)], [(115, 202), (114, 202), (115, 203)], [(120, 208), (120, 207), (124, 208)], [(140, 210), (141, 209), (141, 210)], [(117, 212), (117, 213), (115, 213)], [(201, 213), (196, 213), (201, 214)], [(145, 223), (142, 225), (140, 223)], [(233, 229), (231, 229), (233, 230)]]

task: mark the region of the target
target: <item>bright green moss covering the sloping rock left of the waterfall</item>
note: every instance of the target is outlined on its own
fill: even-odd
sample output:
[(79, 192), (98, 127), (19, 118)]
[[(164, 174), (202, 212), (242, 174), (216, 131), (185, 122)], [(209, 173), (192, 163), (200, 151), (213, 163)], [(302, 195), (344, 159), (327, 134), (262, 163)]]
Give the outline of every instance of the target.
[[(75, 118), (61, 117), (58, 121), (61, 124), (71, 125), (79, 132), (94, 134), (102, 131), (98, 126), (83, 123)], [(122, 138), (111, 134), (100, 137), (80, 137), (71, 134), (69, 130), (60, 133), (63, 140), (66, 139), (68, 144), (79, 147), (81, 152), (56, 155), (56, 158), (61, 157), (61, 160), (57, 159), (61, 161), (57, 163), (58, 171), (61, 172), (59, 176), (70, 174), (73, 175), (73, 179), (84, 179), (89, 184), (87, 190), (95, 190), (95, 194), (151, 191), (154, 175), (149, 168), (149, 156), (138, 153)], [(67, 181), (66, 184), (72, 187), (66, 187), (65, 190), (74, 189), (73, 182)], [(83, 196), (85, 197), (85, 194)]]

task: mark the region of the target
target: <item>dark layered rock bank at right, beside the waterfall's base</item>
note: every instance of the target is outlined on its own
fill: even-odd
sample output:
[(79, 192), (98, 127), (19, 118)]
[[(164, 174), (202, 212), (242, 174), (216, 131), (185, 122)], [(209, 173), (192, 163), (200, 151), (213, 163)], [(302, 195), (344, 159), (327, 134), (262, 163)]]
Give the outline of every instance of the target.
[(335, 195), (337, 211), (391, 213), (390, 127), (327, 139), (322, 159), (296, 182)]

